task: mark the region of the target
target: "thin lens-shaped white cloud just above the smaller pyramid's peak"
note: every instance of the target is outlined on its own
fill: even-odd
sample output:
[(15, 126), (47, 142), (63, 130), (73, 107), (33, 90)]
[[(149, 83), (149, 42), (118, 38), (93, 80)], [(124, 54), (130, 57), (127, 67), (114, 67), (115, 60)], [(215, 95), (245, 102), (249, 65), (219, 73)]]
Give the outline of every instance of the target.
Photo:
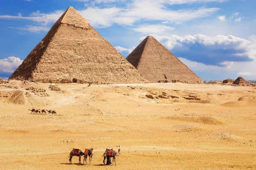
[(160, 34), (172, 31), (175, 28), (164, 25), (141, 25), (132, 29), (143, 34)]

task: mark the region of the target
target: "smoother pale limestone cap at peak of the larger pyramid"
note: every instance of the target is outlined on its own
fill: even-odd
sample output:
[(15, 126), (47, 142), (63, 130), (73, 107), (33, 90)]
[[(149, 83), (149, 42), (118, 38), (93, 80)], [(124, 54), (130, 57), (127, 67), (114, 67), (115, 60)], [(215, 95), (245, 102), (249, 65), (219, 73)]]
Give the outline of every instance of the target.
[(81, 14), (79, 14), (79, 12), (76, 11), (76, 9), (72, 6), (67, 8), (67, 10), (61, 15), (61, 17), (52, 27), (61, 23), (79, 28), (89, 28), (90, 26), (90, 23), (83, 16), (81, 16)]

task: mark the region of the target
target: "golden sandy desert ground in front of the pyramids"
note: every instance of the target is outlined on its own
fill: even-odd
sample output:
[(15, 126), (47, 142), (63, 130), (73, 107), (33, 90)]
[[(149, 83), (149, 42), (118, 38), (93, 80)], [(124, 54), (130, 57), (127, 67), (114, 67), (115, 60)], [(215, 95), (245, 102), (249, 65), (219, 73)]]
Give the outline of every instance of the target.
[[(51, 91), (47, 83), (7, 85), (0, 86), (0, 169), (256, 169), (256, 88), (74, 83)], [(32, 107), (57, 114), (31, 114)], [(119, 145), (116, 166), (103, 166), (105, 149)], [(92, 165), (78, 164), (76, 156), (69, 164), (73, 148), (89, 147)]]

